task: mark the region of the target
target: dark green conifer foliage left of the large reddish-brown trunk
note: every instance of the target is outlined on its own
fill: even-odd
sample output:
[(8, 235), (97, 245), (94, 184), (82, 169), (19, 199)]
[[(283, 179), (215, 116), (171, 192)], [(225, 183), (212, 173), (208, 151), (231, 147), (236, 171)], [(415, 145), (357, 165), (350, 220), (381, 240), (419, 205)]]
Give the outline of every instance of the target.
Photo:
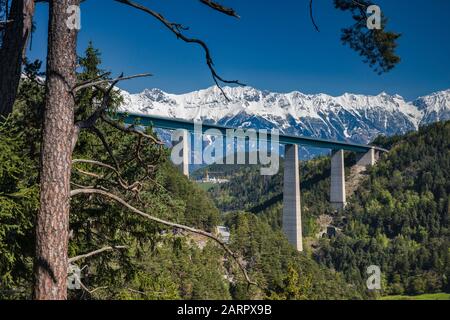
[(36, 167), (20, 157), (24, 149), (23, 133), (12, 119), (0, 122), (0, 298), (30, 294), (26, 288), (17, 290), (31, 275), (38, 207)]

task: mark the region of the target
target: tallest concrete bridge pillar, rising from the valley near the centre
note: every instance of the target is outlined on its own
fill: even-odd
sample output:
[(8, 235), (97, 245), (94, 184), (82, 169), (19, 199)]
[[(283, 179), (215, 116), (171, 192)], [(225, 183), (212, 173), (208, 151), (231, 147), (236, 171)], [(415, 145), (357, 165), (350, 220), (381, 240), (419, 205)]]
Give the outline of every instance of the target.
[(298, 251), (303, 251), (298, 146), (286, 145), (284, 153), (283, 232)]

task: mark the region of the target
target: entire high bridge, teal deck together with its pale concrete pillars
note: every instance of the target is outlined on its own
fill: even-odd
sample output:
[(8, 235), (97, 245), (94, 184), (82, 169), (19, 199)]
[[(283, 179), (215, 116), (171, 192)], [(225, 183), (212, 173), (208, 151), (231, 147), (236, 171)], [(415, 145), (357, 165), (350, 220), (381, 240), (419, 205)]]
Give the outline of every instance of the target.
[[(120, 116), (120, 114), (119, 114)], [(161, 129), (176, 130), (184, 129), (183, 139), (183, 173), (189, 176), (189, 133), (194, 132), (193, 121), (182, 119), (164, 118), (150, 115), (123, 114), (124, 121), (128, 124), (136, 122), (144, 126), (153, 126)], [(216, 129), (226, 136), (228, 128), (213, 124), (202, 124), (202, 133), (209, 129)], [(270, 139), (270, 134), (268, 134)], [(342, 141), (330, 141), (316, 139), (311, 137), (296, 137), (290, 135), (280, 135), (279, 142), (285, 144), (285, 167), (284, 167), (284, 186), (283, 186), (283, 231), (289, 242), (295, 246), (298, 251), (303, 250), (302, 239), (302, 217), (300, 202), (300, 172), (298, 159), (298, 146), (309, 146), (315, 148), (324, 148), (333, 150), (331, 159), (331, 204), (337, 208), (345, 207), (345, 171), (344, 171), (344, 151), (351, 151), (363, 154), (356, 165), (369, 166), (374, 165), (378, 159), (379, 152), (387, 150), (355, 143)]]

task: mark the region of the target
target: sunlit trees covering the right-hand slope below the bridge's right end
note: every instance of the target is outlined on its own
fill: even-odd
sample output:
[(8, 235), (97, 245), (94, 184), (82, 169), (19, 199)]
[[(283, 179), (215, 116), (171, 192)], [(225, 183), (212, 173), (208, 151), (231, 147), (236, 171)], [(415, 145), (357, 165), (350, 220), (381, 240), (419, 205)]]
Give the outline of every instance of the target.
[(391, 151), (349, 202), (343, 234), (317, 259), (355, 282), (379, 265), (388, 294), (448, 290), (450, 122), (376, 143)]

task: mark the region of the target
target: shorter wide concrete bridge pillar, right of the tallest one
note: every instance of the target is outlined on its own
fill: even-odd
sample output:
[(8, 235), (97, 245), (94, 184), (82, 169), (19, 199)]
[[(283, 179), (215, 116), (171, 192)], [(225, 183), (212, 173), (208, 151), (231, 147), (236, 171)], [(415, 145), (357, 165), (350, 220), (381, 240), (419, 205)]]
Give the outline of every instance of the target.
[(342, 210), (346, 205), (344, 150), (333, 151), (331, 154), (330, 202), (336, 210)]

